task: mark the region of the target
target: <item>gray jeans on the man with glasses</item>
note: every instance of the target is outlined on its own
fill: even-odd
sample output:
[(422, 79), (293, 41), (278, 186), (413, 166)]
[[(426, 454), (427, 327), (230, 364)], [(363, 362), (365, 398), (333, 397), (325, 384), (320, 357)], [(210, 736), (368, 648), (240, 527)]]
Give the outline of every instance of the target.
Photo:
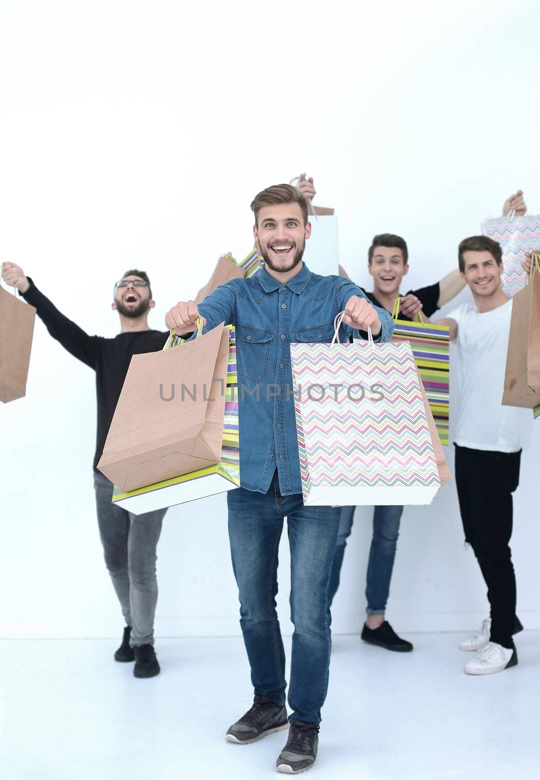
[(133, 515), (111, 503), (112, 482), (94, 472), (98, 526), (105, 565), (119, 598), (130, 645), (154, 644), (154, 615), (158, 601), (156, 547), (166, 509)]

